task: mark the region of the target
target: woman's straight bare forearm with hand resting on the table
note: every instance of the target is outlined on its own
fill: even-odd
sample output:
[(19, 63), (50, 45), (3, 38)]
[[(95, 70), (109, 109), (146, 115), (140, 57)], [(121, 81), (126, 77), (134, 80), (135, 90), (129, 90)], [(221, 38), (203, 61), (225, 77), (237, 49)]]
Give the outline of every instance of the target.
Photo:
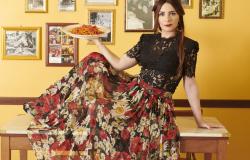
[(208, 125), (206, 122), (204, 122), (202, 118), (199, 90), (195, 78), (184, 76), (183, 85), (198, 127), (208, 128), (208, 129), (211, 127), (218, 127), (218, 126)]

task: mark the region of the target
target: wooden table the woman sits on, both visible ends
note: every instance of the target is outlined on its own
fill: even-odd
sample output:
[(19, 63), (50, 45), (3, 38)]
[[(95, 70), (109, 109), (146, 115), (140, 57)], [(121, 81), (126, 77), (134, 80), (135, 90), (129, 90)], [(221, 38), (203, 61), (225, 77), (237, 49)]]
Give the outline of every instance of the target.
[[(32, 149), (26, 132), (31, 118), (28, 115), (17, 115), (0, 127), (1, 160), (10, 160), (11, 150), (20, 150), (20, 160), (27, 159), (27, 150)], [(208, 122), (220, 124), (214, 117), (204, 118)], [(205, 160), (210, 160), (212, 153), (215, 153), (217, 160), (226, 160), (230, 135), (225, 128), (197, 128), (192, 117), (177, 117), (176, 120), (180, 129), (181, 152), (204, 153)]]

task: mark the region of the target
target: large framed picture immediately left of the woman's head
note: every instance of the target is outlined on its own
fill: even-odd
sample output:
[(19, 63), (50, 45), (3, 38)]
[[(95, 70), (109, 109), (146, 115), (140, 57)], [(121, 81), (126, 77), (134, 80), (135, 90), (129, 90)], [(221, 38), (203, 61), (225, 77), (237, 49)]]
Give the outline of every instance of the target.
[(152, 8), (154, 5), (154, 0), (125, 1), (125, 31), (153, 31), (154, 14), (152, 12)]

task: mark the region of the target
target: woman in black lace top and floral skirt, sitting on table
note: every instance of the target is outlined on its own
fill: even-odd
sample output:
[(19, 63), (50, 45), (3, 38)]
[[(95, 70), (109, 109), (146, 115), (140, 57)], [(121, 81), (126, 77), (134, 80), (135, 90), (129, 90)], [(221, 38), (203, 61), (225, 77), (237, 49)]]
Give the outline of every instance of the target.
[[(198, 43), (184, 37), (180, 2), (159, 0), (153, 11), (155, 34), (142, 35), (120, 59), (94, 39), (101, 54), (91, 53), (24, 105), (35, 117), (28, 136), (37, 159), (177, 160), (172, 94), (182, 77), (197, 125), (212, 127), (201, 116)], [(136, 64), (139, 76), (122, 72)]]

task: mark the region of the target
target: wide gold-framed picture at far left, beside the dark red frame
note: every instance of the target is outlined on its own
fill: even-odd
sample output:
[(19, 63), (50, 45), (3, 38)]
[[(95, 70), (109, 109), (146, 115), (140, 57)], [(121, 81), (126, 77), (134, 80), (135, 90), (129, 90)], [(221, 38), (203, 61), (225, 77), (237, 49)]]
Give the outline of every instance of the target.
[(3, 59), (41, 59), (40, 27), (3, 27)]

